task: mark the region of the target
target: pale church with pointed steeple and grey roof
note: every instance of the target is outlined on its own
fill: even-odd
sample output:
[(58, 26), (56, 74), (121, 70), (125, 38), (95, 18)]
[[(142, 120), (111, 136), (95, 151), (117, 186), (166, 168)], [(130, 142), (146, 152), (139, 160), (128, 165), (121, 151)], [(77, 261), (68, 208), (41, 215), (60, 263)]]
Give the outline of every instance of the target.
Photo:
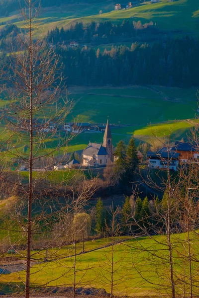
[(112, 136), (108, 121), (103, 136), (103, 144), (89, 143), (82, 155), (84, 166), (106, 166), (108, 161), (112, 160)]

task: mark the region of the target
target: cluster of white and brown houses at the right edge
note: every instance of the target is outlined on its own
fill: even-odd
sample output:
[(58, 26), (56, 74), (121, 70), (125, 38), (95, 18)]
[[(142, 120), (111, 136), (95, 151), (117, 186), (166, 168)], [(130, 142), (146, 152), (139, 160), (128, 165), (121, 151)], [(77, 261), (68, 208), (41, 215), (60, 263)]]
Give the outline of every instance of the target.
[(155, 169), (178, 170), (179, 165), (199, 164), (199, 148), (191, 143), (177, 142), (173, 147), (163, 147), (158, 152), (147, 152), (148, 166)]

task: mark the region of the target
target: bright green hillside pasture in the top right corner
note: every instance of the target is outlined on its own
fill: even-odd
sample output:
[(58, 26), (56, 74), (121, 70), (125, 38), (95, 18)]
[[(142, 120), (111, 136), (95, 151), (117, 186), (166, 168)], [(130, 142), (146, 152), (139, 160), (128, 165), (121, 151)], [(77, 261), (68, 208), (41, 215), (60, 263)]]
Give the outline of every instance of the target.
[(81, 18), (83, 22), (111, 20), (118, 21), (132, 19), (142, 22), (153, 21), (158, 28), (164, 30), (179, 30), (184, 33), (199, 33), (199, 10), (196, 0), (176, 0), (168, 2), (161, 0), (159, 3), (151, 4), (150, 1), (143, 2), (137, 7), (107, 12), (101, 15), (93, 15)]

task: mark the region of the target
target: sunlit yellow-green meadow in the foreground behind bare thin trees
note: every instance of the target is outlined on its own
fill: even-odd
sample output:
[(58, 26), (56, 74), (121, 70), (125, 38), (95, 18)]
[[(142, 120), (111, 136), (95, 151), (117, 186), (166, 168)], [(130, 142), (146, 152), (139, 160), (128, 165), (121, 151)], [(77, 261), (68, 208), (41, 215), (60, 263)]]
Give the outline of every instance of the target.
[[(196, 256), (198, 255), (197, 241), (194, 240), (194, 234), (192, 234), (191, 237), (192, 249), (195, 249)], [(184, 266), (179, 256), (180, 252), (183, 253), (181, 240), (186, 238), (186, 234), (173, 235), (171, 238), (175, 247), (173, 257), (177, 284), (179, 282), (178, 279), (183, 274), (182, 268)], [(95, 247), (100, 249), (77, 256), (76, 282), (78, 287), (104, 288), (107, 292), (110, 292), (111, 248), (101, 248), (103, 244), (109, 242), (106, 240), (95, 244)], [(114, 294), (122, 293), (123, 296), (153, 297), (155, 294), (157, 295), (157, 293), (166, 293), (164, 292), (164, 286), (169, 286), (169, 282), (167, 281), (169, 277), (169, 255), (168, 249), (164, 244), (165, 236), (154, 236), (152, 238), (143, 237), (116, 244), (114, 246), (113, 258), (115, 264), (113, 275), (115, 280), (113, 288)], [(153, 251), (154, 249), (156, 253), (155, 255), (151, 255), (149, 251)], [(62, 252), (65, 253), (64, 251)], [(58, 258), (55, 261), (35, 264), (31, 268), (32, 286), (43, 284), (46, 286), (72, 286), (74, 258), (72, 256), (67, 257), (67, 253), (66, 251), (65, 259)], [(73, 254), (73, 249), (70, 250), (70, 253)], [(159, 257), (163, 256), (164, 258), (161, 261)], [(193, 271), (194, 270), (193, 268)], [(142, 274), (143, 278), (141, 278), (139, 272)], [(22, 271), (6, 276), (1, 275), (0, 282), (15, 284), (18, 283), (19, 280), (23, 281), (24, 278), (25, 272)], [(198, 276), (195, 276), (195, 280), (198, 280)], [(158, 288), (157, 283), (161, 284), (161, 290)], [(195, 284), (196, 283), (195, 281)], [(176, 287), (176, 291), (180, 294), (181, 287)]]

